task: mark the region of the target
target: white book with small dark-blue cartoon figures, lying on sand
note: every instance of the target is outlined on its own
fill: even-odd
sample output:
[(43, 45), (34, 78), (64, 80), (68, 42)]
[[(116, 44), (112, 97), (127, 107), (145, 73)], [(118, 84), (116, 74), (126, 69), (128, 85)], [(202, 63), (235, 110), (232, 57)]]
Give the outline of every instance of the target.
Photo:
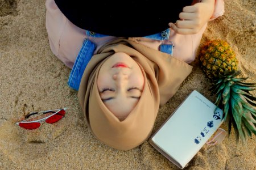
[(151, 136), (150, 144), (180, 169), (222, 124), (223, 112), (196, 90)]

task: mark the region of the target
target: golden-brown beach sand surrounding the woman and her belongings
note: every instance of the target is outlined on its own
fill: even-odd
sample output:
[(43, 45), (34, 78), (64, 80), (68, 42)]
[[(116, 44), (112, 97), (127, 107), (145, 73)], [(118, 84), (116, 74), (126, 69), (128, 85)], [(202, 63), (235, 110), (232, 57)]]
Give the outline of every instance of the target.
[[(49, 48), (44, 3), (0, 0), (0, 169), (178, 169), (148, 141), (118, 151), (93, 137), (77, 92), (67, 86), (71, 70)], [(209, 22), (201, 41), (228, 41), (247, 82), (256, 81), (255, 11), (255, 0), (225, 0), (224, 16)], [(198, 58), (191, 65), (192, 74), (160, 108), (153, 133), (193, 90), (214, 102)], [(27, 112), (63, 107), (67, 115), (56, 124), (36, 130), (15, 125)], [(226, 123), (221, 128), (228, 130)], [(187, 169), (256, 169), (255, 139), (236, 145), (232, 131), (220, 145), (201, 148)]]

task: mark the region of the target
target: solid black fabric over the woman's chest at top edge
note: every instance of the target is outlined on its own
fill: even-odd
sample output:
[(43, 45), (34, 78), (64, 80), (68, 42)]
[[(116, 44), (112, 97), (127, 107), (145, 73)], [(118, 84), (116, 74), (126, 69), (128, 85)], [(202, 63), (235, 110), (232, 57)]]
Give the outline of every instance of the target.
[(55, 0), (55, 3), (82, 29), (111, 36), (142, 37), (167, 29), (168, 23), (175, 23), (183, 7), (191, 5), (192, 0)]

